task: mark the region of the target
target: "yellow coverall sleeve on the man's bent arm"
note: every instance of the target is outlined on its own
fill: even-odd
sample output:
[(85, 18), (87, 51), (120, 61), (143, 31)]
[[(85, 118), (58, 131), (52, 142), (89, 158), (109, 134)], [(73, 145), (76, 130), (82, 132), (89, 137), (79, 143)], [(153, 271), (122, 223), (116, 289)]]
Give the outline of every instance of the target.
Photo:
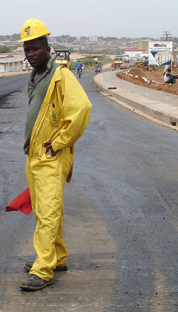
[(75, 144), (86, 128), (91, 111), (91, 103), (71, 71), (61, 68), (61, 80), (57, 84), (63, 99), (61, 114), (65, 124), (52, 141), (55, 152)]

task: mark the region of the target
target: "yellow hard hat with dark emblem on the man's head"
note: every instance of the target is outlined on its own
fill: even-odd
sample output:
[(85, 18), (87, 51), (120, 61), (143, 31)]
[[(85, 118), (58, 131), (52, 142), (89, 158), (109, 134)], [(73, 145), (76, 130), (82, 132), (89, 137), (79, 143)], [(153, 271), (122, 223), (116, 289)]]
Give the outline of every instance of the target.
[(44, 22), (37, 19), (27, 20), (21, 28), (21, 40), (18, 42), (24, 42), (32, 39), (36, 39), (43, 36), (51, 35)]

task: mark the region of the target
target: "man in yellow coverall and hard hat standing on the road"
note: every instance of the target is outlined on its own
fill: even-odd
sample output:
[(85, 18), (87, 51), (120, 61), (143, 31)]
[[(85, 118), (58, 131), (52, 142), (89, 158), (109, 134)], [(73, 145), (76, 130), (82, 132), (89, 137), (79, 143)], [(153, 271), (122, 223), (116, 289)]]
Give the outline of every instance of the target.
[(51, 285), (53, 270), (67, 270), (67, 247), (62, 238), (63, 190), (72, 176), (74, 144), (89, 121), (91, 104), (73, 73), (50, 56), (44, 22), (28, 20), (21, 29), (25, 56), (33, 68), (25, 122), (26, 179), (37, 222), (36, 261), (25, 268), (26, 290)]

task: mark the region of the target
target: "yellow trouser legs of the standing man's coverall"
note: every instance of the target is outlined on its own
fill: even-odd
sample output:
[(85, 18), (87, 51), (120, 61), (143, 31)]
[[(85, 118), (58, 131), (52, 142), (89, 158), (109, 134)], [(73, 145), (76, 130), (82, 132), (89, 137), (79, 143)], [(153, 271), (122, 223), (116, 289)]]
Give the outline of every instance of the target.
[(37, 221), (33, 241), (37, 259), (30, 274), (48, 281), (56, 266), (67, 263), (67, 247), (62, 239), (62, 198), (73, 156), (70, 148), (66, 148), (56, 158), (48, 158), (43, 153), (39, 160), (39, 145), (34, 144), (31, 159), (27, 156), (26, 161), (26, 179)]

